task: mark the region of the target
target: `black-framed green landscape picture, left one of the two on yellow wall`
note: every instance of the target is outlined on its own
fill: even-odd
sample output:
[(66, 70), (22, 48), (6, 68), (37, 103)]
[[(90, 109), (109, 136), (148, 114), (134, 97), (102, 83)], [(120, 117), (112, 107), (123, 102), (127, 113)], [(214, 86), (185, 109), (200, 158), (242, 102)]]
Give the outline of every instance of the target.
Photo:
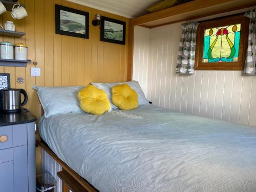
[(55, 5), (55, 33), (89, 38), (89, 13)]

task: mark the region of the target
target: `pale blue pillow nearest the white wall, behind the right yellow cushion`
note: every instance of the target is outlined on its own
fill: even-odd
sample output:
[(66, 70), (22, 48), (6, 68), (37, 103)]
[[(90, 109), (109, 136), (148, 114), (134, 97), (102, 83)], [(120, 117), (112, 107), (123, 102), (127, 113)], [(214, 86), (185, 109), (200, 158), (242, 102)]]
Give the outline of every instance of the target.
[(112, 87), (116, 86), (117, 84), (128, 84), (136, 93), (138, 94), (138, 101), (139, 105), (146, 105), (149, 104), (138, 81), (128, 81), (128, 82), (106, 82), (106, 83), (100, 83), (100, 82), (91, 82), (95, 87), (102, 89), (106, 92), (108, 95), (108, 98), (111, 103), (111, 109), (118, 109), (116, 105), (112, 102)]

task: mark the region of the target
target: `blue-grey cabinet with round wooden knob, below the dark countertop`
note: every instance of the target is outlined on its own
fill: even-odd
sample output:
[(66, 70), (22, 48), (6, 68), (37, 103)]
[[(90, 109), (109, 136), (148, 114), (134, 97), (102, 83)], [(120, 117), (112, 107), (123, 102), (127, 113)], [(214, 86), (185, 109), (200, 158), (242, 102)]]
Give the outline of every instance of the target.
[(0, 126), (0, 187), (36, 191), (35, 122)]

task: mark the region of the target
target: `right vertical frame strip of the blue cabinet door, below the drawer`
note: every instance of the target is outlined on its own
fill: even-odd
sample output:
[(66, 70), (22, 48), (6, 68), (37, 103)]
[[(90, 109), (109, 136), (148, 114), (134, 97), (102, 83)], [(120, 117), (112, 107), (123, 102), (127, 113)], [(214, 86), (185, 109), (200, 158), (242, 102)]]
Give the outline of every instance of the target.
[(13, 147), (14, 191), (28, 191), (27, 145)]

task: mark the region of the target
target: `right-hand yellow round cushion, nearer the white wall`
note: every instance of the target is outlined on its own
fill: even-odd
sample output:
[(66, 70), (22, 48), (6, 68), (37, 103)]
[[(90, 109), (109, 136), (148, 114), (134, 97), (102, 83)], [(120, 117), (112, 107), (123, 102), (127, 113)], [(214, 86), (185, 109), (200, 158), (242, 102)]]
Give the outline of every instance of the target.
[(121, 110), (133, 110), (139, 105), (136, 91), (127, 84), (120, 84), (112, 88), (112, 102)]

